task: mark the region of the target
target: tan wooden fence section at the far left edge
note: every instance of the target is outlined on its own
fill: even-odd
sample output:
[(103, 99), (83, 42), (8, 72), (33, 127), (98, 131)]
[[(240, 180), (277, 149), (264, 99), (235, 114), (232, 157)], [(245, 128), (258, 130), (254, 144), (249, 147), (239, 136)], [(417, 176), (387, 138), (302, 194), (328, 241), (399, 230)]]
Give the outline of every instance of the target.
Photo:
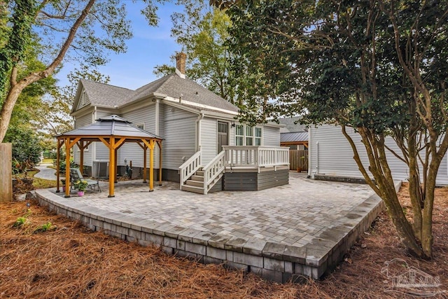
[(12, 144), (0, 144), (0, 202), (13, 200), (12, 166)]

